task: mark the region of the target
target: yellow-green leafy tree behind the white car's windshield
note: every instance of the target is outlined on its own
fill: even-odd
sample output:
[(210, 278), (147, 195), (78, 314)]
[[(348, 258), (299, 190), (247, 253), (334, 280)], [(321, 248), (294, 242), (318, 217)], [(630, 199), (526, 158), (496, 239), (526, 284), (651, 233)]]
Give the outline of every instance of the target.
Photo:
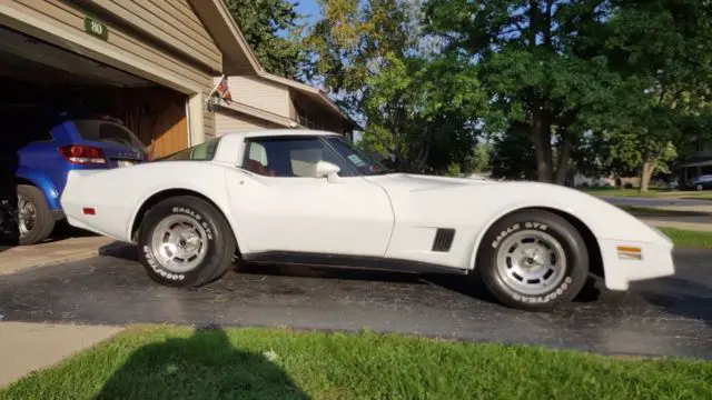
[(474, 69), (439, 56), (419, 32), (419, 6), (402, 0), (319, 0), (307, 37), (313, 77), (366, 121), (362, 146), (397, 170), (446, 172), (475, 160), (485, 98)]

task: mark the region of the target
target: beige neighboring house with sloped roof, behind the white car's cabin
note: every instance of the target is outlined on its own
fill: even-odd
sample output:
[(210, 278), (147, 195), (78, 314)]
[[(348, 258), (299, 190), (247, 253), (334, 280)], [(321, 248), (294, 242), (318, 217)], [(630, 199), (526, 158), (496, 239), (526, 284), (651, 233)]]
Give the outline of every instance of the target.
[[(221, 77), (216, 77), (217, 86)], [(231, 101), (215, 101), (218, 136), (254, 129), (301, 128), (342, 133), (353, 140), (358, 124), (322, 90), (258, 71), (229, 76)]]

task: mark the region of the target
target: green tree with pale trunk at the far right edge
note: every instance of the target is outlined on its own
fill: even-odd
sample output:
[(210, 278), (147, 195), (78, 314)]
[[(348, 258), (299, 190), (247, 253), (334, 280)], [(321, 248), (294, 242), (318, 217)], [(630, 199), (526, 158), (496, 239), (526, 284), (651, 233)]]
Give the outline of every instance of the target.
[(709, 118), (712, 77), (712, 8), (699, 0), (612, 1), (616, 13), (599, 38), (611, 68), (632, 82), (640, 101), (627, 108), (633, 124), (615, 130), (634, 143), (641, 191), (676, 156), (691, 126)]

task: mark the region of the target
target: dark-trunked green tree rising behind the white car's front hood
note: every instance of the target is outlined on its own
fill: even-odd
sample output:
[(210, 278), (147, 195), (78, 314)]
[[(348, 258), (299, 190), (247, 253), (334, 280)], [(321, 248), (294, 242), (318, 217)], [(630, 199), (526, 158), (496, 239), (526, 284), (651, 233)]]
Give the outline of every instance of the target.
[[(494, 112), (487, 129), (528, 127), (537, 178), (563, 183), (586, 121), (613, 100), (616, 76), (585, 52), (611, 13), (591, 0), (431, 0), (428, 31), (478, 66)], [(500, 121), (495, 121), (500, 119)]]

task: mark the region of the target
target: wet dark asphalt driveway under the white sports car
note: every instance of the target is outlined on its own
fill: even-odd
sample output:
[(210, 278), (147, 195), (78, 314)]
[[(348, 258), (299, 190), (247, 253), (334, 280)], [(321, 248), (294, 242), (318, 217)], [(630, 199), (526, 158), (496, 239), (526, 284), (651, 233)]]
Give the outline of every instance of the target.
[(462, 277), (308, 267), (254, 267), (200, 289), (170, 289), (150, 281), (131, 257), (132, 251), (3, 276), (0, 314), (32, 322), (367, 328), (712, 359), (709, 251), (678, 252), (675, 277), (639, 283), (626, 293), (591, 286), (576, 303), (555, 313), (504, 308)]

